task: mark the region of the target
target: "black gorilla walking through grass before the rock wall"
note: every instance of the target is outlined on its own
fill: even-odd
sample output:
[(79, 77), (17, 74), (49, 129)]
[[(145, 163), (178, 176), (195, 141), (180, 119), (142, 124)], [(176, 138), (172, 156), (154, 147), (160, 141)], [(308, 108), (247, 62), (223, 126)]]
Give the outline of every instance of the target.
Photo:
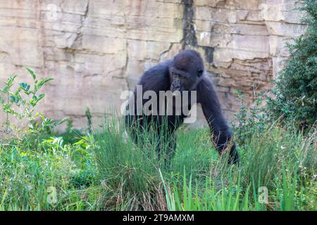
[[(211, 79), (204, 74), (203, 60), (197, 51), (181, 51), (173, 59), (155, 65), (144, 72), (137, 85), (142, 86), (142, 94), (145, 91), (154, 91), (157, 96), (159, 96), (159, 91), (171, 91), (173, 93), (175, 93), (174, 91), (180, 91), (180, 96), (183, 96), (184, 91), (197, 91), (197, 103), (201, 104), (218, 152), (221, 154), (230, 146), (229, 163), (238, 162), (235, 143), (231, 143), (232, 133), (221, 112), (220, 103), (216, 91), (213, 89)], [(158, 99), (158, 102), (161, 100)], [(149, 99), (142, 99), (142, 107), (147, 101)], [(175, 103), (175, 99), (173, 101)], [(134, 95), (130, 98), (130, 106), (128, 105), (127, 109), (131, 108), (131, 103), (134, 104), (134, 109), (130, 109), (130, 113), (125, 115), (125, 125), (135, 141), (137, 143), (141, 142), (136, 133), (144, 131), (144, 127), (150, 123), (156, 124), (155, 132), (158, 134), (158, 139), (162, 138), (161, 127), (163, 121), (167, 119), (168, 137), (169, 140), (173, 141), (168, 141), (165, 146), (170, 148), (172, 152), (170, 155), (173, 155), (176, 146), (175, 130), (184, 122), (186, 115), (183, 113), (176, 114), (175, 108), (173, 108), (172, 115), (140, 115), (137, 113), (137, 87)], [(191, 106), (191, 103), (189, 103), (188, 108), (190, 109)], [(160, 142), (157, 141), (157, 143)], [(158, 151), (160, 153), (159, 144)]]

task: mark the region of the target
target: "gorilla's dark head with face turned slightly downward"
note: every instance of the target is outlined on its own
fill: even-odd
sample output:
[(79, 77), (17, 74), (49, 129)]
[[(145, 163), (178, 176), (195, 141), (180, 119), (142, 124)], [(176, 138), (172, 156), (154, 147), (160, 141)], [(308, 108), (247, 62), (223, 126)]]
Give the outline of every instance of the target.
[(170, 91), (192, 90), (203, 72), (204, 63), (197, 51), (181, 51), (170, 66)]

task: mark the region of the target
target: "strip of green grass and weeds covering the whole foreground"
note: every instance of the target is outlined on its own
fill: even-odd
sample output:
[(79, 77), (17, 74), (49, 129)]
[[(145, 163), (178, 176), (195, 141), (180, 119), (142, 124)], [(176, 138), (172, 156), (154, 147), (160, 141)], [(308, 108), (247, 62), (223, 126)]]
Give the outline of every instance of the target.
[(208, 129), (182, 127), (166, 167), (156, 136), (139, 134), (135, 146), (118, 124), (108, 120), (75, 143), (2, 140), (0, 210), (316, 210), (316, 130), (302, 136), (268, 124), (236, 137), (241, 162), (228, 166)]

